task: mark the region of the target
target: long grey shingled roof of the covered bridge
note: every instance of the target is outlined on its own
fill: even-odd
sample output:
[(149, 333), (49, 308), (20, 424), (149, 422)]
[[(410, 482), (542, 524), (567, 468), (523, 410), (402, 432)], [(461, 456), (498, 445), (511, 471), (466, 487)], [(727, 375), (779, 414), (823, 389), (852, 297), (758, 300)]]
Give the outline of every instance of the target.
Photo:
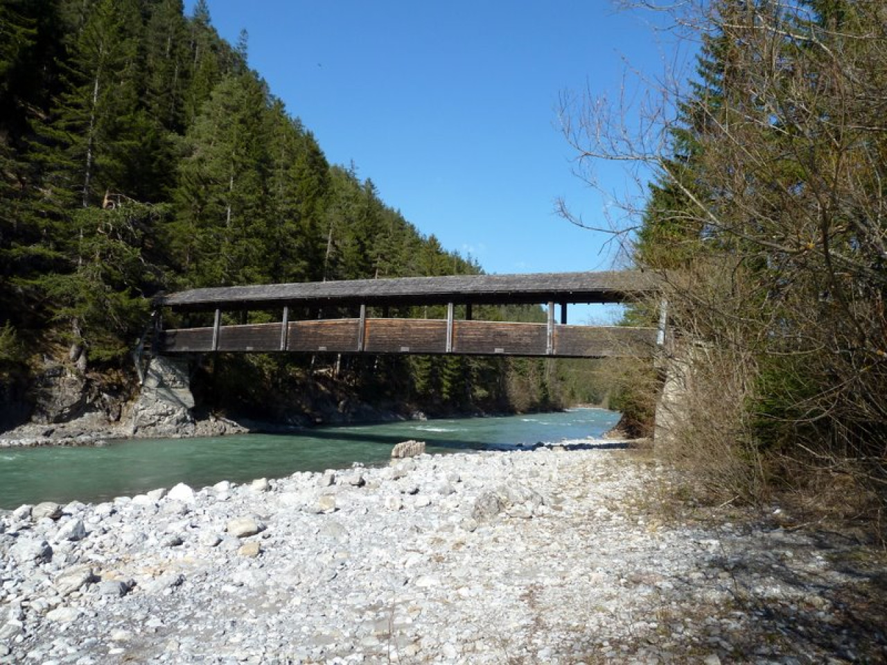
[(658, 289), (659, 278), (640, 270), (520, 275), (349, 279), (255, 286), (218, 286), (169, 293), (174, 309), (272, 309), (284, 305), (540, 304), (624, 302)]

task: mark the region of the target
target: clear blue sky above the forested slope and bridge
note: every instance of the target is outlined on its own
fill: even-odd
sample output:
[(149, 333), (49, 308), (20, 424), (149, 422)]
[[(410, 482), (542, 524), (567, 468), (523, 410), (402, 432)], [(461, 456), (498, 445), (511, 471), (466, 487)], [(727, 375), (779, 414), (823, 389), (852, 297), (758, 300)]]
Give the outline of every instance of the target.
[[(187, 0), (191, 12), (193, 0)], [(209, 0), (231, 43), (326, 158), (354, 163), (425, 235), (490, 273), (606, 270), (588, 221), (606, 201), (573, 175), (558, 125), (562, 92), (617, 96), (626, 62), (651, 74), (662, 49), (649, 16), (609, 0)], [(621, 190), (622, 167), (600, 179)]]

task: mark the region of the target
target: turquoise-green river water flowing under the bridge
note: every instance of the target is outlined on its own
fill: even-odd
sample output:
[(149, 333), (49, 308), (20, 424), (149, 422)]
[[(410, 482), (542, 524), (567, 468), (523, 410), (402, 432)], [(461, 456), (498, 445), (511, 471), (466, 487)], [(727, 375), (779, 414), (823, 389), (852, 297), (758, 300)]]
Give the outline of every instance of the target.
[(41, 501), (106, 501), (185, 482), (279, 478), (297, 471), (383, 464), (398, 442), (417, 439), (429, 453), (509, 450), (536, 442), (599, 437), (619, 414), (572, 409), (499, 418), (436, 419), (326, 426), (297, 434), (196, 439), (130, 439), (101, 447), (0, 448), (0, 509)]

